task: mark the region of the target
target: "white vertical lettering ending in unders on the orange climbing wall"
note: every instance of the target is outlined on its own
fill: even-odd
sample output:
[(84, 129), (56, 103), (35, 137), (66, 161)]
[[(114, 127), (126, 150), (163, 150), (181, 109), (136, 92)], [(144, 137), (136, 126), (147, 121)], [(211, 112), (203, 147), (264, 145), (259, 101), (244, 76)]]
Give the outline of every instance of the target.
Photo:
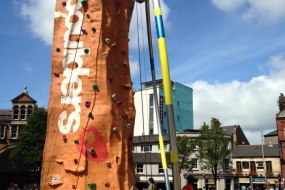
[[(67, 13), (56, 12), (55, 17), (64, 17), (67, 28), (64, 33), (64, 59), (62, 61), (63, 81), (61, 83), (61, 104), (72, 105), (74, 110), (68, 115), (67, 111), (62, 111), (58, 117), (58, 128), (63, 134), (68, 134), (71, 130), (76, 132), (80, 127), (80, 103), (82, 91), (82, 80), (80, 77), (88, 76), (89, 69), (83, 68), (82, 56), (85, 55), (83, 41), (70, 41), (70, 35), (80, 35), (83, 14), (80, 12), (81, 2), (71, 5), (72, 0), (66, 2)], [(76, 22), (70, 22), (71, 17), (77, 17)], [(77, 49), (75, 49), (77, 48)], [(77, 64), (73, 66), (74, 62)]]

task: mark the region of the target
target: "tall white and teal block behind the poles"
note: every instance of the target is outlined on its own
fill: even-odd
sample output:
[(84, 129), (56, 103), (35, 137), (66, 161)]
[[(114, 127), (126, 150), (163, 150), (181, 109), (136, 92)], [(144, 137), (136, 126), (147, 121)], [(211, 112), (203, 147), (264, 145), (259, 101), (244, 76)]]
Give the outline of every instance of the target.
[[(162, 132), (168, 133), (167, 113), (164, 105), (164, 89), (162, 80), (157, 80), (157, 96), (159, 101), (159, 116), (155, 112), (152, 82), (143, 83), (143, 89), (136, 91), (134, 102), (136, 120), (134, 136), (158, 134), (158, 123), (161, 123)], [(175, 128), (178, 132), (193, 129), (193, 90), (192, 88), (171, 81)]]

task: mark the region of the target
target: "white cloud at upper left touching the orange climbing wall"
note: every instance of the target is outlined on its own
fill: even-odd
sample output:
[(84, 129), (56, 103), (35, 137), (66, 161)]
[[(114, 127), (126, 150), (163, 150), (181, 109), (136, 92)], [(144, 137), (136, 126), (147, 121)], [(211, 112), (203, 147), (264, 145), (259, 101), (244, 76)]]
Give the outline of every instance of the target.
[(55, 0), (17, 1), (17, 6), (34, 36), (48, 45), (52, 44)]

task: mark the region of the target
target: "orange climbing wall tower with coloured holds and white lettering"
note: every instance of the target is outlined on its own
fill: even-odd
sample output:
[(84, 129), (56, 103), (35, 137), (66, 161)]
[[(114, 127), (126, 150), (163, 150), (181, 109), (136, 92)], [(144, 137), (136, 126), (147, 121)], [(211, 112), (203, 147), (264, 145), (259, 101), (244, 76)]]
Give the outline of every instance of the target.
[(57, 0), (41, 189), (130, 189), (130, 0)]

